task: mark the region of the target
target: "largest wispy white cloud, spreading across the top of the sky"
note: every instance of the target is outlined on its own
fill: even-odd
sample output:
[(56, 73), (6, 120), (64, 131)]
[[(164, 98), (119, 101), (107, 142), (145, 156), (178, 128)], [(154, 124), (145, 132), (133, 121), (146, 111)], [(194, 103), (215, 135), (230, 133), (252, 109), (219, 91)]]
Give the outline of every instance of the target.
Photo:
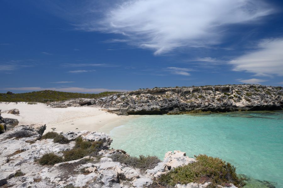
[(218, 44), (227, 25), (258, 23), (274, 13), (260, 0), (128, 0), (114, 5), (102, 19), (84, 19), (78, 29), (121, 34), (125, 39), (110, 41), (153, 49), (155, 55)]

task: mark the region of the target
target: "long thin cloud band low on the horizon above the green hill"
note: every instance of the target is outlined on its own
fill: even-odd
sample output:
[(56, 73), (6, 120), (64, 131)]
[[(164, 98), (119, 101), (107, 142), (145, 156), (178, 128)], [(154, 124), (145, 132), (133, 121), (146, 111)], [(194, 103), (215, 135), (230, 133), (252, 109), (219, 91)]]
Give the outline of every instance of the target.
[(113, 90), (113, 89), (104, 89), (104, 88), (84, 88), (84, 87), (63, 87), (63, 88), (56, 88), (56, 87), (7, 87), (3, 88), (2, 90), (7, 91), (42, 91), (42, 90), (53, 90), (53, 91), (64, 91), (64, 92), (89, 92), (89, 93), (100, 93), (104, 91), (120, 91), (125, 92), (128, 90)]

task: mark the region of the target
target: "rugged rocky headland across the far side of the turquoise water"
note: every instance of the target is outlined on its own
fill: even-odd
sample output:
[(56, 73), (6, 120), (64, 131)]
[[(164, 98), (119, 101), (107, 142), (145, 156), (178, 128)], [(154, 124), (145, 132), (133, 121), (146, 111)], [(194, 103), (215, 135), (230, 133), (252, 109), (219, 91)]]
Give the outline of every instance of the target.
[[(80, 100), (81, 102), (79, 102)], [(282, 87), (261, 85), (140, 89), (99, 99), (57, 102), (51, 106), (82, 105), (98, 105), (108, 112), (120, 115), (281, 110), (283, 89)]]

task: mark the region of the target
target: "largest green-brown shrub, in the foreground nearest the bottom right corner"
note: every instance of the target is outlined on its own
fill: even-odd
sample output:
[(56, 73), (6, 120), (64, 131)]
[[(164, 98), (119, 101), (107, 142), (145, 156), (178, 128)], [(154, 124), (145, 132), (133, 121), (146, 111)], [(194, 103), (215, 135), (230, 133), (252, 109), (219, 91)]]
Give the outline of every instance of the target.
[(163, 174), (158, 179), (161, 185), (172, 185), (177, 183), (188, 184), (190, 182), (205, 183), (212, 182), (216, 185), (225, 186), (232, 183), (237, 187), (242, 187), (244, 179), (236, 174), (236, 168), (222, 159), (208, 157), (200, 154), (196, 157), (196, 162), (180, 166)]

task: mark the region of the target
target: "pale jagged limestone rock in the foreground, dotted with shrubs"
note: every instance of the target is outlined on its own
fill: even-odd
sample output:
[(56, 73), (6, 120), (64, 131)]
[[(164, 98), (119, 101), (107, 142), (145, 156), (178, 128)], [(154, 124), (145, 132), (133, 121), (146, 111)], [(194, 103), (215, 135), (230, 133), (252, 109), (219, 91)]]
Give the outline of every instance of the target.
[[(112, 139), (105, 133), (80, 131), (62, 133), (71, 140), (68, 144), (54, 143), (53, 139), (42, 139), (46, 126), (16, 126), (0, 135), (0, 186), (7, 187), (99, 187), (99, 188), (141, 188), (150, 186), (155, 178), (174, 168), (195, 162), (180, 151), (167, 152), (164, 160), (153, 169), (145, 172), (113, 161), (113, 154), (125, 154), (124, 151), (108, 149)], [(20, 131), (28, 136), (16, 138)], [(82, 137), (89, 141), (103, 141), (105, 149), (97, 156), (86, 156), (68, 162), (50, 165), (39, 165), (36, 160), (43, 154), (62, 152), (75, 146), (75, 139)], [(188, 184), (175, 187), (203, 188), (206, 184)], [(235, 187), (234, 187), (235, 188)]]

